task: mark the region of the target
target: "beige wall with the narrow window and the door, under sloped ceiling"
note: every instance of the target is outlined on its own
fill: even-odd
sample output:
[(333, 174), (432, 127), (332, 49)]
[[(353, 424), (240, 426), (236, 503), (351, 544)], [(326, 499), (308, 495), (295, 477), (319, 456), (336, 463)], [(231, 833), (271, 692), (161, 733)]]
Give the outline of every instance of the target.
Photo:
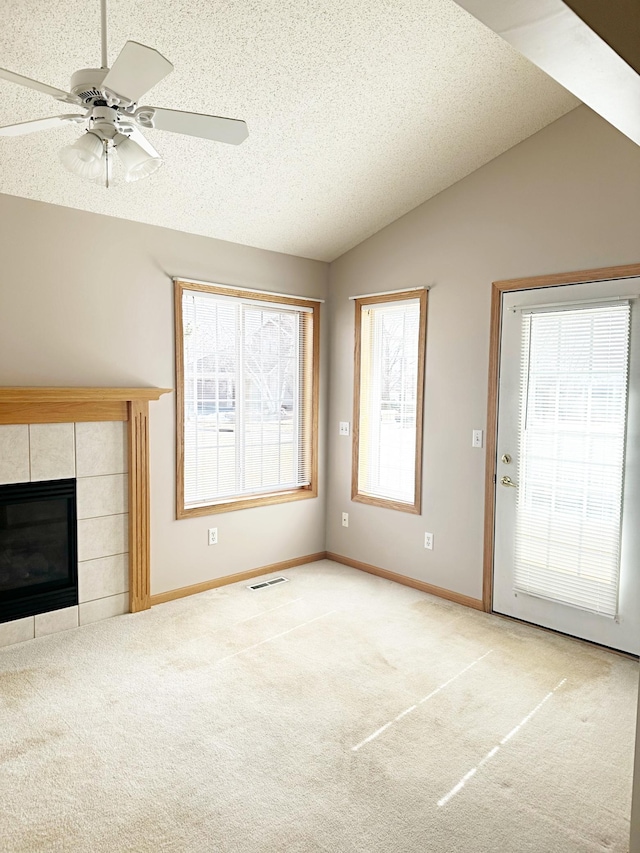
[[(482, 594), (491, 282), (640, 261), (640, 150), (580, 107), (331, 266), (327, 548), (475, 598)], [(353, 302), (432, 285), (421, 516), (352, 503)], [(349, 512), (350, 526), (340, 513)], [(424, 549), (424, 532), (434, 549)]]

